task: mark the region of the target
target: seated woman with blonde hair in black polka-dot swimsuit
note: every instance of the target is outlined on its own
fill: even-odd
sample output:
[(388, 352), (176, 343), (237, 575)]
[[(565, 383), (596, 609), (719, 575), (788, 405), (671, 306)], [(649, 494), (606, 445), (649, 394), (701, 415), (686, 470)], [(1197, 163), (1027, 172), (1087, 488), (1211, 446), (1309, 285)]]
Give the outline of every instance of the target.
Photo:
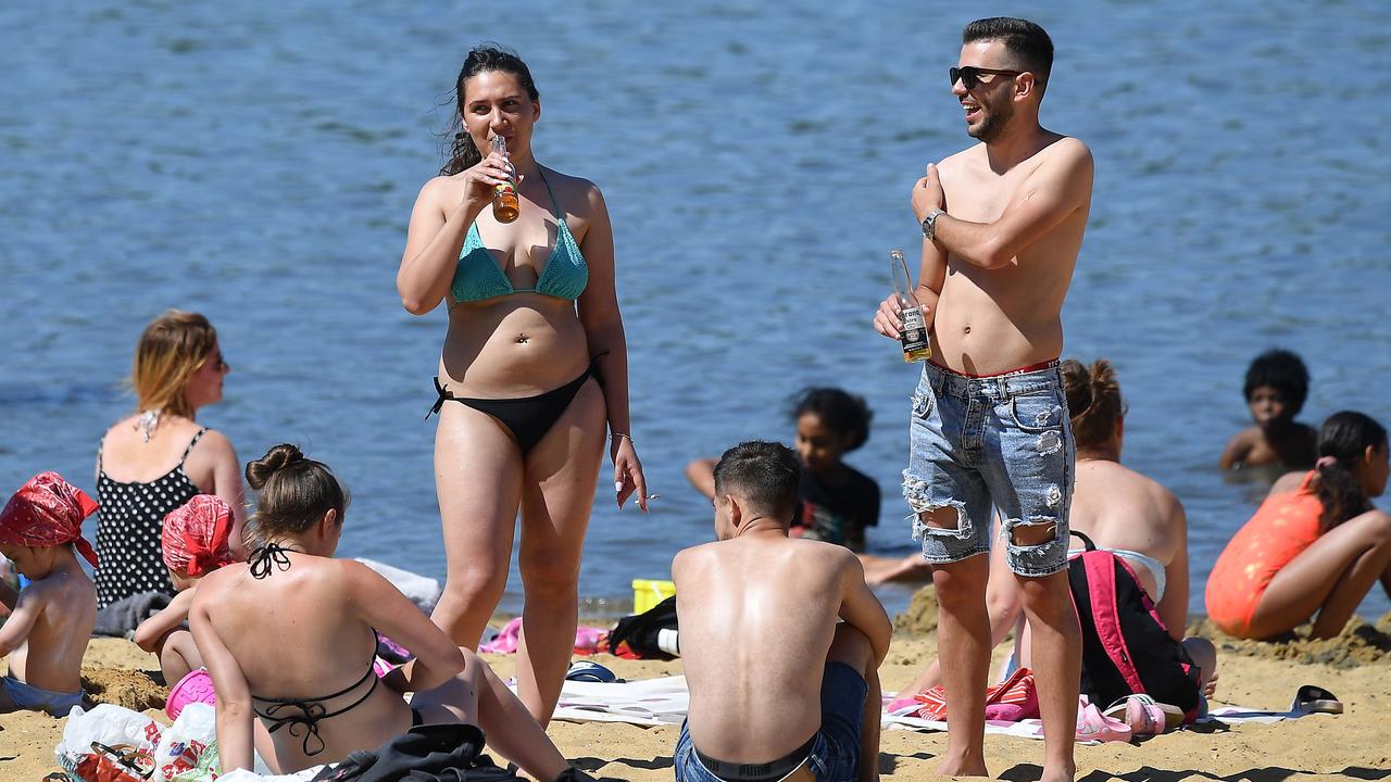
[(107, 430), (96, 455), (97, 608), (147, 591), (175, 594), (160, 532), (164, 516), (196, 494), (231, 505), (232, 551), (243, 554), (236, 452), (196, 420), (199, 408), (223, 399), (228, 372), (202, 314), (168, 310), (140, 334), (129, 380), (136, 410)]

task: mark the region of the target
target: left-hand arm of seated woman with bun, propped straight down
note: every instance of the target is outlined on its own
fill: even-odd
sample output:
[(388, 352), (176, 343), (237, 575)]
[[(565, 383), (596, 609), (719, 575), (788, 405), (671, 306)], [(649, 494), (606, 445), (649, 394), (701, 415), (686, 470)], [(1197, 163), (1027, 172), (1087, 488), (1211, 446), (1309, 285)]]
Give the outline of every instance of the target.
[(250, 771), (255, 761), (252, 692), (241, 667), (236, 665), (236, 658), (217, 636), (209, 619), (209, 608), (216, 604), (220, 590), (207, 589), (206, 582), (216, 577), (217, 573), (204, 577), (204, 589), (198, 591), (189, 608), (188, 625), (217, 690), (217, 754), (221, 757), (223, 771), (230, 772), (236, 768)]

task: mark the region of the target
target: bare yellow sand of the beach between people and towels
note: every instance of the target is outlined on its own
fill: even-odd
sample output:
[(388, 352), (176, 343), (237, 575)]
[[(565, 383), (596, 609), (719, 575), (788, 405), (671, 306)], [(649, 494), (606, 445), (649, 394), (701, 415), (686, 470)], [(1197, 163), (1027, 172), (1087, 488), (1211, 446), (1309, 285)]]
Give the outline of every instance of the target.
[[(886, 690), (908, 685), (936, 651), (936, 615), (931, 593), (899, 616), (893, 647), (881, 671)], [(1202, 628), (1202, 622), (1193, 629)], [(1391, 614), (1376, 623), (1353, 621), (1338, 639), (1284, 643), (1235, 641), (1212, 636), (1221, 650), (1220, 686), (1214, 705), (1260, 710), (1288, 708), (1298, 686), (1333, 690), (1345, 705), (1337, 717), (1313, 715), (1270, 725), (1203, 725), (1136, 743), (1077, 749), (1078, 779), (1129, 781), (1391, 778)], [(509, 676), (512, 655), (487, 655)], [(595, 661), (626, 679), (680, 673), (680, 661), (629, 661), (606, 654)], [(153, 655), (118, 639), (96, 639), (88, 648), (83, 675), (95, 700), (118, 703), (168, 722), (161, 707), (164, 687)], [(57, 771), (53, 747), (65, 719), (42, 714), (0, 715), (0, 769), (6, 781), (40, 779)], [(676, 728), (622, 724), (554, 722), (551, 737), (561, 751), (605, 781), (672, 779), (670, 751)], [(885, 779), (933, 779), (946, 747), (944, 733), (886, 731), (879, 754)], [(1000, 779), (1035, 779), (1042, 742), (986, 736), (990, 771)]]

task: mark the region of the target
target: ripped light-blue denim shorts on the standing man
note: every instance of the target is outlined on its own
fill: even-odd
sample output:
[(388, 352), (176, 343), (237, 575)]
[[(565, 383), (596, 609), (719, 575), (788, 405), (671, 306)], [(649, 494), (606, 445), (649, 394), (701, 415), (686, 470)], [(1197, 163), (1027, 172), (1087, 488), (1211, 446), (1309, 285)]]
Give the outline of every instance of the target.
[[(944, 565), (990, 550), (997, 508), (1010, 569), (1047, 576), (1067, 568), (1067, 513), (1072, 502), (1072, 427), (1056, 366), (967, 377), (933, 363), (912, 395), (911, 454), (903, 497), (922, 558)], [(928, 526), (919, 513), (956, 508), (957, 526)], [(1047, 527), (1045, 540), (1015, 532)], [(1017, 529), (1018, 527), (1018, 529)]]

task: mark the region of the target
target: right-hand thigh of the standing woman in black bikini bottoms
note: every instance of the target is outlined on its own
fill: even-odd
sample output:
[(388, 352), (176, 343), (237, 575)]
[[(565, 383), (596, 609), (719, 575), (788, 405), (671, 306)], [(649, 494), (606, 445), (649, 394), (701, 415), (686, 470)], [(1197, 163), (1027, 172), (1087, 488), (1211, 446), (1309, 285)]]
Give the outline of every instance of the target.
[(604, 392), (586, 383), (531, 449), (522, 483), (523, 575), (531, 569), (579, 577), (580, 548), (604, 459)]

